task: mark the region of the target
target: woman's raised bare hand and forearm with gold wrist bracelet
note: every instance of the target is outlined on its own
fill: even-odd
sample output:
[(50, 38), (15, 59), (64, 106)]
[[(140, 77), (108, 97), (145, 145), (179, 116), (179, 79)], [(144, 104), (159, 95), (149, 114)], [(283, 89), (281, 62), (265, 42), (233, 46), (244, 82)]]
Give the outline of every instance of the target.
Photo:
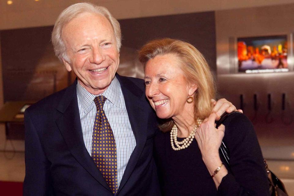
[[(215, 120), (217, 114), (212, 113), (208, 118), (204, 119), (200, 127), (195, 133), (195, 139), (202, 154), (202, 160), (209, 171), (213, 174), (215, 169), (222, 163), (219, 155), (220, 144), (224, 138), (224, 125), (215, 128)], [(218, 188), (222, 178), (228, 174), (225, 166), (222, 166), (220, 171), (213, 177), (215, 186)]]

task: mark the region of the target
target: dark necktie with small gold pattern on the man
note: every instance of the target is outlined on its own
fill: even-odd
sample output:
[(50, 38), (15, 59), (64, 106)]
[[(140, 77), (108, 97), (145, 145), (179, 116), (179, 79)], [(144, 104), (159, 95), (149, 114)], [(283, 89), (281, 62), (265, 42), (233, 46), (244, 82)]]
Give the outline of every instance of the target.
[(111, 188), (117, 192), (117, 164), (115, 138), (103, 110), (106, 98), (102, 95), (95, 97), (97, 113), (94, 120), (92, 135), (92, 158), (101, 174)]

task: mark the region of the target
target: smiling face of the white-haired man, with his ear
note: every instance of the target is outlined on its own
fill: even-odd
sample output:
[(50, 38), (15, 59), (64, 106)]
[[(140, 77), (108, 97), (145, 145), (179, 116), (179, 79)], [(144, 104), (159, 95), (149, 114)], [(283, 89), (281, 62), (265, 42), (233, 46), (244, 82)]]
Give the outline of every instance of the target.
[(102, 15), (82, 13), (62, 30), (62, 38), (70, 62), (64, 61), (68, 71), (73, 70), (79, 83), (92, 94), (107, 89), (119, 66), (114, 32)]

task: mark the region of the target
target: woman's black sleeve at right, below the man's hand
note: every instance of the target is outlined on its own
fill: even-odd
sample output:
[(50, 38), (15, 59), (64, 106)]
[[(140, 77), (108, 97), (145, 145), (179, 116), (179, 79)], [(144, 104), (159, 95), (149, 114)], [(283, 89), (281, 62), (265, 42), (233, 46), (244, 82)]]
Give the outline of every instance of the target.
[[(229, 150), (230, 166), (218, 191), (220, 195), (269, 195), (263, 157), (250, 120), (233, 114), (224, 121), (224, 143)], [(222, 158), (222, 157), (221, 157)]]

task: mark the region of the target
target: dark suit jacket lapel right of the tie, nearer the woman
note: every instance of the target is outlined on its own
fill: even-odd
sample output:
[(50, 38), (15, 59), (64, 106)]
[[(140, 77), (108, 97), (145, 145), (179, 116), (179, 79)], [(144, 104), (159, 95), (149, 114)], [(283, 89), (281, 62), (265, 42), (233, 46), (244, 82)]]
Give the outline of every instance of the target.
[[(136, 147), (130, 156), (128, 164), (123, 174), (123, 178), (119, 185), (119, 191), (123, 188), (126, 181), (129, 179), (131, 173), (138, 162), (138, 159), (144, 149), (147, 138), (147, 123), (148, 115), (144, 112), (149, 104), (145, 101), (145, 94), (141, 89), (137, 88), (134, 83), (126, 78), (120, 77), (118, 74), (116, 77), (119, 79), (123, 96), (126, 104), (126, 110), (128, 112), (130, 124), (135, 136)], [(141, 99), (143, 97), (143, 99)]]

